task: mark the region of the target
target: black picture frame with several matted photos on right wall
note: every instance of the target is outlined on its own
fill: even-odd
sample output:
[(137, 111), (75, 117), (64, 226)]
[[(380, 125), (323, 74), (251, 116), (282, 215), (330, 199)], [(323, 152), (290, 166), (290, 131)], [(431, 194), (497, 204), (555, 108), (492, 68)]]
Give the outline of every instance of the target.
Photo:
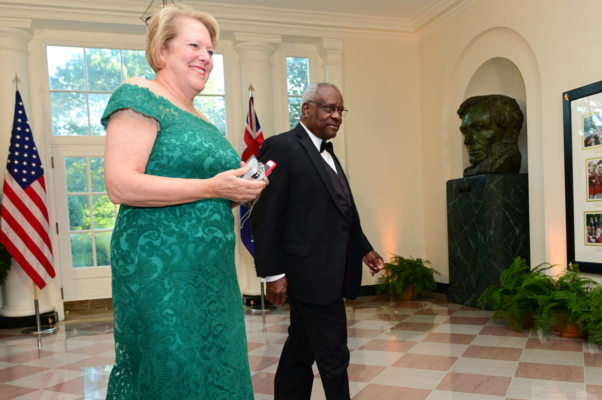
[(602, 274), (602, 81), (562, 94), (567, 264)]

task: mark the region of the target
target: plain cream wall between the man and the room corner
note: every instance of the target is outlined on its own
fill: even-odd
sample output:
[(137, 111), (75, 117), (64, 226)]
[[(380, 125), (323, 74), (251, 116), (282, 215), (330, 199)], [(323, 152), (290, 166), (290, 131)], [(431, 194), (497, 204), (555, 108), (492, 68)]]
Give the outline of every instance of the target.
[[(414, 41), (344, 41), (347, 175), (364, 233), (385, 260), (425, 256), (418, 75)], [(366, 269), (362, 283), (373, 280)]]

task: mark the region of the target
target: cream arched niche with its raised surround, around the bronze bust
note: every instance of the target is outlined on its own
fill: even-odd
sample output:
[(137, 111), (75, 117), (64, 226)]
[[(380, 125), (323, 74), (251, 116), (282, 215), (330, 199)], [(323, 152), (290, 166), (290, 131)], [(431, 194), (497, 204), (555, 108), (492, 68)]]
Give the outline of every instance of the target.
[[(489, 62), (492, 60), (491, 62)], [(503, 60), (503, 61), (502, 61)], [(488, 63), (489, 62), (489, 63)], [(512, 65), (510, 65), (512, 64)], [(513, 71), (514, 66), (516, 71)], [(483, 67), (479, 71), (480, 67)], [(485, 79), (494, 79), (492, 76), (499, 73), (510, 73), (509, 77), (497, 83), (489, 82), (488, 85), (504, 85), (504, 88), (520, 88), (520, 78), (523, 83), (523, 104), (519, 102), (523, 111), (529, 111), (523, 129), (529, 132), (526, 136), (526, 151), (523, 158), (529, 173), (529, 228), (531, 261), (535, 264), (545, 261), (545, 213), (544, 187), (543, 187), (543, 133), (541, 123), (541, 75), (538, 62), (529, 43), (514, 29), (497, 26), (486, 29), (470, 40), (459, 54), (458, 59), (450, 74), (450, 85), (444, 94), (442, 112), (442, 127), (444, 134), (444, 159), (448, 160), (448, 177), (455, 179), (462, 177), (462, 171), (468, 166), (464, 159), (466, 153), (462, 134), (459, 132), (459, 118), (456, 111), (468, 94), (476, 94), (485, 85)], [(499, 79), (499, 75), (498, 78)], [(472, 81), (472, 82), (471, 82)], [(480, 88), (479, 88), (480, 86)], [(499, 87), (499, 86), (498, 86)], [(481, 93), (483, 94), (483, 93)], [(485, 93), (491, 94), (491, 93)], [(503, 93), (506, 95), (508, 92)], [(510, 96), (513, 97), (513, 96)], [(517, 97), (515, 97), (517, 98)], [(517, 98), (517, 101), (519, 99)], [(522, 149), (521, 149), (522, 151)]]

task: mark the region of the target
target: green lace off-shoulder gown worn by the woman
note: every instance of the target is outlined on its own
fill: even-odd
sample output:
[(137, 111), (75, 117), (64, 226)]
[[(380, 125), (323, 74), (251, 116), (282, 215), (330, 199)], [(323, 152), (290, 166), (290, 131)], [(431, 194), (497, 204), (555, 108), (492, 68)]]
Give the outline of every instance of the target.
[[(146, 174), (210, 178), (240, 157), (212, 124), (124, 84), (102, 116), (133, 109), (160, 131)], [(252, 400), (230, 201), (122, 205), (111, 239), (116, 360), (108, 400)]]

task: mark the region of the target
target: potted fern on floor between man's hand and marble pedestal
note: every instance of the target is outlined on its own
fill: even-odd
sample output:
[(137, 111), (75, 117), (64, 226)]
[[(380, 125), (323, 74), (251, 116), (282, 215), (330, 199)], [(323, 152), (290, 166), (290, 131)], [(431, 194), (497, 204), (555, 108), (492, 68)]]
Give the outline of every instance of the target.
[(433, 274), (441, 275), (434, 268), (427, 267), (430, 261), (421, 258), (403, 258), (395, 255), (385, 262), (385, 269), (376, 280), (376, 294), (387, 297), (399, 295), (402, 299), (421, 297), (426, 291), (436, 289)]

